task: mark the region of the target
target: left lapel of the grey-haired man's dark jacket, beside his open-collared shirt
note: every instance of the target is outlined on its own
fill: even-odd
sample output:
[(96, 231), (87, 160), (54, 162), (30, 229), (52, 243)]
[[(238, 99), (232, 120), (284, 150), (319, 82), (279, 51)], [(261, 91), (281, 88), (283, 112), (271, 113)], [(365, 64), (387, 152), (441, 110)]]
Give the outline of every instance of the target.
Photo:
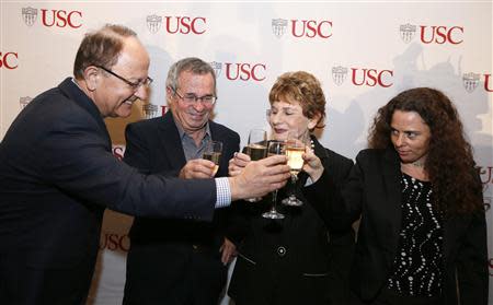
[(163, 156), (170, 162), (173, 169), (181, 169), (186, 164), (186, 159), (171, 110), (164, 115), (160, 122), (159, 129), (164, 136), (159, 139), (160, 148), (164, 154)]

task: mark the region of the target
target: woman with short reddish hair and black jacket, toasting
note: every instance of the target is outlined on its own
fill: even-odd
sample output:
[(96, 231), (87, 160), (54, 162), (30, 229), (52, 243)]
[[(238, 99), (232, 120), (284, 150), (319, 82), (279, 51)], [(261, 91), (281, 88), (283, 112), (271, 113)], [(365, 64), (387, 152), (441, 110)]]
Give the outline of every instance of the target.
[[(320, 82), (307, 72), (280, 75), (270, 93), (267, 112), (274, 140), (287, 140), (295, 131), (299, 138), (323, 126), (325, 97)], [(323, 148), (311, 137), (303, 172), (299, 174), (300, 207), (277, 206), (285, 219), (271, 220), (262, 214), (271, 208), (264, 202), (240, 202), (236, 207), (245, 220), (245, 233), (238, 241), (239, 256), (229, 295), (237, 305), (345, 304), (346, 277), (351, 265), (354, 234), (351, 225), (331, 231), (328, 200), (313, 200), (326, 189), (320, 177), (330, 173), (335, 191), (346, 179), (353, 162)], [(250, 161), (238, 154), (230, 161), (230, 174), (237, 175)], [(279, 191), (278, 197), (287, 195)], [(331, 300), (330, 300), (331, 298)]]

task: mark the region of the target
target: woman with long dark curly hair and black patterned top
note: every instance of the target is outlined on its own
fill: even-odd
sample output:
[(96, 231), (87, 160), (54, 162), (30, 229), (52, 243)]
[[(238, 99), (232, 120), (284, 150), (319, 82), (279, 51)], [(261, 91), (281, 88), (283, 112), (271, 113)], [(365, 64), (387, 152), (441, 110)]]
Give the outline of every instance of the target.
[(333, 213), (335, 223), (362, 219), (354, 304), (486, 305), (481, 181), (449, 98), (400, 93), (378, 110), (368, 142)]

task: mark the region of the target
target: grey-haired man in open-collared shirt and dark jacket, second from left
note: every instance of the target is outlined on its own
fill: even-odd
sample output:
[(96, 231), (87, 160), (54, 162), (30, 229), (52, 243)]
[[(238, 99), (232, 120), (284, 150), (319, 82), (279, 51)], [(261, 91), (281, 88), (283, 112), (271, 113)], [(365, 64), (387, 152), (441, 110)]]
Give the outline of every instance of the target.
[[(127, 126), (124, 161), (146, 174), (207, 178), (214, 172), (205, 166), (202, 154), (214, 140), (222, 142), (216, 177), (227, 176), (240, 137), (210, 120), (216, 103), (216, 75), (210, 64), (185, 58), (171, 66), (167, 101), (171, 110), (164, 117)], [(211, 223), (136, 218), (124, 304), (217, 304), (234, 251), (225, 237), (229, 212), (229, 208), (221, 209)]]

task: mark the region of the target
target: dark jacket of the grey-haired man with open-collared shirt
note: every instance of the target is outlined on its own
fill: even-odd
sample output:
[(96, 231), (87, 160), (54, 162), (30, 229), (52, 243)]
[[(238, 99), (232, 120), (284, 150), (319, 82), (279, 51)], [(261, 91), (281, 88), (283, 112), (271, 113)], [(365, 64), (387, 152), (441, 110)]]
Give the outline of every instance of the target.
[[(222, 142), (222, 154), (216, 176), (223, 177), (228, 175), (229, 160), (239, 150), (240, 137), (237, 132), (214, 121), (209, 121), (209, 129), (211, 139)], [(146, 174), (161, 173), (176, 177), (186, 164), (180, 133), (171, 112), (168, 112), (164, 117), (128, 125), (126, 139), (124, 161)], [(131, 294), (131, 300), (144, 302), (144, 296), (135, 295), (141, 294), (139, 290), (148, 290), (156, 284), (152, 293), (162, 294), (162, 296), (154, 297), (165, 303), (165, 295), (171, 293), (173, 288), (181, 285), (183, 274), (186, 273), (185, 269), (192, 268), (191, 263), (179, 261), (186, 260), (191, 253), (197, 250), (197, 247), (203, 248), (200, 250), (204, 250), (204, 255), (214, 256), (219, 261), (219, 247), (223, 242), (223, 230), (228, 226), (228, 213), (229, 208), (217, 210), (211, 223), (195, 220), (136, 218), (130, 230), (131, 245), (127, 260), (130, 272), (127, 272), (125, 297)], [(157, 265), (165, 267), (168, 272), (162, 274)], [(226, 272), (221, 263), (217, 266), (221, 266), (221, 272)], [(133, 272), (136, 269), (147, 270), (147, 272)], [(142, 273), (146, 273), (142, 278), (137, 275)], [(167, 281), (173, 288), (167, 288), (164, 278), (170, 278)], [(206, 286), (205, 284), (203, 285)]]

